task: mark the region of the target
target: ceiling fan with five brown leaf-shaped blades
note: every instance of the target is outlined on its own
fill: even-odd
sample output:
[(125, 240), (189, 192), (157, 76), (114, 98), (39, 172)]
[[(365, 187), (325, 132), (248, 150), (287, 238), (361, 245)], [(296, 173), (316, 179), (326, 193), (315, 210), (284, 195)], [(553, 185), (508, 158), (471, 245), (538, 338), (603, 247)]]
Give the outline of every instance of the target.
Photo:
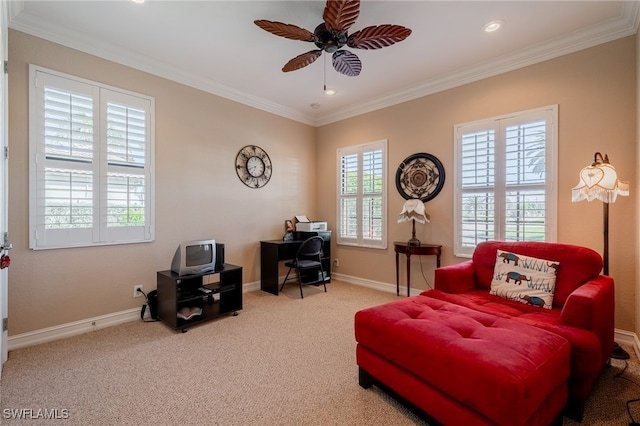
[(362, 71), (358, 56), (348, 50), (340, 50), (345, 45), (354, 49), (381, 49), (409, 37), (411, 30), (401, 25), (373, 25), (349, 35), (348, 30), (358, 19), (360, 0), (327, 0), (323, 23), (311, 32), (292, 24), (259, 19), (254, 23), (265, 31), (291, 40), (312, 42), (318, 49), (296, 56), (285, 64), (282, 71), (289, 72), (304, 68), (322, 55), (324, 50), (332, 54), (336, 71), (355, 77)]

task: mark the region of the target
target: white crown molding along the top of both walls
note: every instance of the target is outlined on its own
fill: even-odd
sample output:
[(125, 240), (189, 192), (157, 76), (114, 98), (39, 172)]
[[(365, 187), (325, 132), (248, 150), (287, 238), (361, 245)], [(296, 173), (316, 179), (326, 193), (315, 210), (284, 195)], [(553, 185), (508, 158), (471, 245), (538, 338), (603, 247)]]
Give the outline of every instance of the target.
[(311, 117), (219, 82), (198, 78), (189, 72), (159, 63), (150, 57), (127, 54), (101, 40), (77, 37), (75, 33), (53, 26), (42, 18), (22, 14), (19, 20), (14, 19), (23, 10), (24, 1), (9, 2), (9, 28), (314, 127), (388, 108), (633, 35), (638, 32), (640, 26), (640, 1), (626, 1), (623, 3), (621, 15), (604, 24), (575, 32), (568, 37), (552, 40), (516, 54), (479, 63), (463, 71), (448, 73), (393, 93), (376, 96), (329, 114)]

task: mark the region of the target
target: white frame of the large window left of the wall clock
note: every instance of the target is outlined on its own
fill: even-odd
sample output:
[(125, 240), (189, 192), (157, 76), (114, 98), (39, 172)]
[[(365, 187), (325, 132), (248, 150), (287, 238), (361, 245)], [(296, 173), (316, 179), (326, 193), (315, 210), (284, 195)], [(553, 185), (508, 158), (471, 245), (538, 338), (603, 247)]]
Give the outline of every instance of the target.
[[(52, 93), (59, 90), (62, 96), (86, 97), (90, 110), (85, 115), (87, 123), (81, 123), (91, 129), (91, 139), (87, 145), (85, 157), (70, 154), (51, 154), (47, 151), (47, 137), (45, 136), (45, 92)], [(137, 149), (142, 152), (138, 162), (113, 161), (113, 146), (109, 150), (109, 140), (114, 136), (114, 114), (107, 116), (107, 105), (125, 109), (127, 119), (130, 114), (142, 117), (138, 125), (139, 135), (130, 132), (135, 128), (133, 119), (125, 124), (125, 140), (127, 150), (133, 145), (134, 138), (138, 138)], [(75, 113), (75, 109), (72, 113)], [(119, 89), (95, 81), (75, 77), (73, 75), (29, 65), (29, 248), (32, 250), (57, 249), (68, 247), (88, 247), (114, 244), (151, 242), (155, 238), (155, 99), (132, 91)], [(74, 138), (69, 145), (75, 145)], [(50, 146), (50, 145), (49, 145)], [(133, 150), (133, 148), (131, 148)], [(142, 151), (140, 151), (142, 150)], [(110, 156), (111, 161), (109, 160)], [(131, 157), (133, 158), (133, 157)], [(56, 167), (57, 166), (57, 167)], [(78, 174), (88, 176), (86, 182), (86, 207), (90, 213), (86, 215), (86, 226), (51, 228), (47, 227), (46, 186), (55, 185), (52, 176), (68, 175), (69, 178)], [(49, 179), (47, 180), (47, 175)], [(116, 178), (117, 176), (117, 178)], [(135, 191), (132, 186), (125, 186), (124, 190), (114, 192), (114, 179), (127, 184), (132, 181), (143, 182)], [(72, 181), (74, 182), (74, 181)], [(65, 184), (66, 185), (66, 184)], [(73, 183), (65, 190), (75, 192)], [(124, 191), (124, 192), (123, 192)], [(49, 192), (51, 193), (51, 191)], [(109, 197), (111, 194), (111, 197)], [(115, 194), (115, 195), (114, 195)], [(123, 195), (124, 194), (124, 195)], [(134, 196), (137, 200), (134, 200)], [(119, 200), (123, 197), (126, 201)], [(125, 203), (127, 214), (137, 210), (144, 216), (140, 225), (135, 220), (125, 225), (108, 226), (109, 213), (113, 213), (117, 204)], [(134, 207), (135, 206), (135, 207)], [(73, 204), (69, 204), (73, 208)], [(73, 216), (75, 217), (75, 216)], [(113, 217), (113, 215), (112, 215)], [(139, 219), (138, 219), (139, 220)], [(116, 222), (117, 223), (117, 222)]]

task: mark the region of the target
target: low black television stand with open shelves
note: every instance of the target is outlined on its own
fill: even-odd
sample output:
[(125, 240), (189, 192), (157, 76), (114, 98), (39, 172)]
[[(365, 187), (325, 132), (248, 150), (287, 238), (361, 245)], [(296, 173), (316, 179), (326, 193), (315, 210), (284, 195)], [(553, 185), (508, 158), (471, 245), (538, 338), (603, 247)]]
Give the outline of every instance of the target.
[[(212, 280), (215, 280), (212, 282)], [(158, 271), (158, 318), (182, 330), (242, 309), (242, 266), (225, 263), (217, 271), (178, 275)]]

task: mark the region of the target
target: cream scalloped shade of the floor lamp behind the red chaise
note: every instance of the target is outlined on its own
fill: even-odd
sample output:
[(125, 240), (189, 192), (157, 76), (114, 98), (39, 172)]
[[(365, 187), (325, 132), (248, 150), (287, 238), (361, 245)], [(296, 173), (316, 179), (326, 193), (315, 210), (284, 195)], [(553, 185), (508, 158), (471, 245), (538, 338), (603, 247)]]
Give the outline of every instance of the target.
[(571, 201), (600, 200), (604, 203), (615, 203), (618, 195), (629, 195), (629, 183), (618, 180), (615, 167), (609, 164), (605, 155), (602, 159), (599, 153), (593, 164), (580, 171), (580, 181), (571, 190)]

